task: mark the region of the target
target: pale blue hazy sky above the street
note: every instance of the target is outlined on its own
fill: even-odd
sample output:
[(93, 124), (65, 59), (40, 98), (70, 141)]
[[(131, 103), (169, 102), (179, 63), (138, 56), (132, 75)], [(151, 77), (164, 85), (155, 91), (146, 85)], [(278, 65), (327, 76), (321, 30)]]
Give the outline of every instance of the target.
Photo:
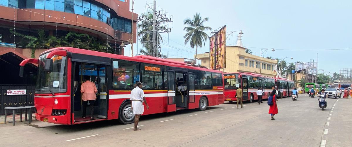
[[(134, 13), (147, 12), (148, 3), (153, 1), (135, 0)], [(243, 46), (254, 55), (260, 56), (260, 48), (274, 48), (274, 52), (263, 52), (263, 57), (288, 57), (285, 60), (291, 63), (316, 61), (318, 53), (319, 73), (339, 73), (341, 68), (352, 68), (348, 64), (352, 55), (352, 1), (349, 0), (157, 0), (156, 3), (173, 15), (171, 32), (161, 34), (162, 53), (169, 58), (194, 58), (195, 48), (184, 44), (183, 20), (200, 13), (202, 18), (209, 18), (205, 26), (217, 29), (226, 25), (228, 33), (243, 30)], [(210, 31), (206, 33), (210, 35)], [(236, 44), (237, 34), (227, 38), (227, 45)], [(139, 42), (134, 44), (134, 55), (141, 48)], [(206, 51), (209, 40), (198, 48), (198, 54)], [(125, 55), (131, 56), (130, 45), (125, 47)]]

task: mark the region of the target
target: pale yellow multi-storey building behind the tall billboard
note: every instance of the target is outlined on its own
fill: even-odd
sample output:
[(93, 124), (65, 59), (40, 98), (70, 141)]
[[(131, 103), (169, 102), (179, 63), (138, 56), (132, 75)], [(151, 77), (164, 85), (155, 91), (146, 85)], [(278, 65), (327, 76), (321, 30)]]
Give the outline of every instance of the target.
[[(274, 66), (277, 60), (260, 58), (245, 51), (241, 46), (226, 46), (226, 66), (225, 72), (253, 72), (262, 74), (265, 77), (274, 77), (276, 72)], [(201, 60), (201, 65), (210, 67), (210, 53), (198, 54), (197, 59)]]

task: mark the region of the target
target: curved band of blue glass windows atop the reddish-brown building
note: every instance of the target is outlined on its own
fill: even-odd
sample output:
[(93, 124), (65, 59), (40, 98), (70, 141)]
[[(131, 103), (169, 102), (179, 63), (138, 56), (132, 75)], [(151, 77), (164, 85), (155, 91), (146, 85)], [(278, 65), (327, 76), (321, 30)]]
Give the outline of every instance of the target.
[[(124, 1), (124, 0), (121, 0)], [(74, 13), (104, 22), (114, 30), (132, 33), (132, 22), (109, 7), (89, 0), (0, 0), (0, 6), (21, 9), (44, 9)]]

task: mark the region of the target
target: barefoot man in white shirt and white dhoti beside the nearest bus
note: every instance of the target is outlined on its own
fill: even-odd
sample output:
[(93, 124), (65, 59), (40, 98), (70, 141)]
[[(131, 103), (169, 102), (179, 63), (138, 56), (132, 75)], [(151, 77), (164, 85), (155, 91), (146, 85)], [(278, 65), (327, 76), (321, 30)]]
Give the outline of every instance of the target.
[(143, 102), (147, 106), (147, 109), (149, 109), (147, 101), (145, 100), (145, 97), (144, 97), (144, 92), (142, 90), (142, 86), (143, 86), (142, 83), (137, 82), (136, 88), (132, 89), (132, 91), (131, 91), (130, 100), (131, 100), (131, 104), (132, 104), (133, 114), (135, 114), (135, 116), (134, 116), (134, 131), (140, 130), (139, 128), (137, 128), (137, 126), (138, 126), (138, 122), (139, 122), (139, 117), (144, 112)]

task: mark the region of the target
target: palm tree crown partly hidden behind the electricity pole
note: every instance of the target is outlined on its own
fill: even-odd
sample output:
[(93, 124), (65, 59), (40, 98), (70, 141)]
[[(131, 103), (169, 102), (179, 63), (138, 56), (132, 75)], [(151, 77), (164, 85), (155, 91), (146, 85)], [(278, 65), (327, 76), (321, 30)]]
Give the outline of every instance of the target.
[[(151, 20), (153, 19), (153, 13), (151, 12), (147, 12), (145, 14), (141, 14), (142, 17), (146, 17), (147, 19)], [(158, 20), (159, 22), (162, 21), (161, 19)], [(140, 43), (144, 44), (151, 44), (151, 41), (153, 41), (153, 33), (151, 30), (153, 30), (153, 22), (152, 21), (142, 21), (142, 23), (139, 23), (137, 25), (137, 28), (140, 30), (137, 33), (138, 37), (142, 37), (140, 39)], [(149, 32), (147, 32), (149, 31)], [(163, 38), (161, 37), (160, 33), (157, 32), (157, 44), (159, 44), (159, 42), (163, 42)]]

